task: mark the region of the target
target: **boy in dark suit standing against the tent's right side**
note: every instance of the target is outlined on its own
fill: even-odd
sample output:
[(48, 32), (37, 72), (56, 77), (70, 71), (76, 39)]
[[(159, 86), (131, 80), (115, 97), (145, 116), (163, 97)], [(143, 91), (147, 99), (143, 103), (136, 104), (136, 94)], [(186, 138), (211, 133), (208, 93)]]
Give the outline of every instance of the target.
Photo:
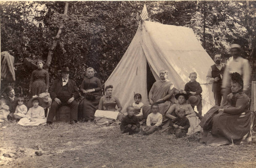
[[(190, 79), (190, 81), (186, 83), (184, 91), (188, 95), (189, 100), (193, 99), (193, 98), (198, 100), (198, 101), (194, 101), (193, 103), (190, 102), (190, 104), (193, 109), (195, 108), (195, 106), (197, 106), (198, 113), (200, 116), (202, 116), (202, 95), (201, 95), (201, 93), (203, 92), (203, 90), (200, 86), (200, 83), (196, 81), (197, 73), (196, 72), (189, 73), (189, 79)], [(191, 96), (194, 96), (194, 97), (191, 97)]]

